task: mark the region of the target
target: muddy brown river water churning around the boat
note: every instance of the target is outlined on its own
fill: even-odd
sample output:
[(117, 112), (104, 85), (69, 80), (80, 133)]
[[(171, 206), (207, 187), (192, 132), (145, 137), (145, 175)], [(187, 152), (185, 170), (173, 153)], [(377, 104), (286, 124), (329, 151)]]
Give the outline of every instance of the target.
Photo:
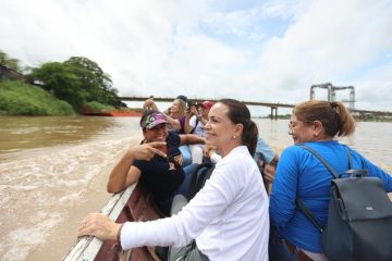
[[(278, 152), (287, 120), (255, 120)], [(99, 211), (109, 172), (140, 138), (135, 117), (0, 117), (0, 260), (61, 260), (82, 217)], [(358, 123), (342, 139), (392, 172), (392, 123)]]

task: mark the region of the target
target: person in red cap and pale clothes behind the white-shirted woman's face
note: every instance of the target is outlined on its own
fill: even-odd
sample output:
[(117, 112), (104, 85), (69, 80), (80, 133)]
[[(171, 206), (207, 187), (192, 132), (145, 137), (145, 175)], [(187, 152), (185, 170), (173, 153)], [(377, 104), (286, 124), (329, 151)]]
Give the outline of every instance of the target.
[[(205, 137), (205, 125), (208, 122), (208, 113), (213, 104), (213, 101), (204, 101), (198, 107), (199, 110), (197, 110), (197, 108), (193, 105), (185, 119), (185, 133), (196, 134), (200, 137)], [(203, 163), (203, 151), (205, 146), (189, 145), (188, 147), (192, 154), (192, 163)]]

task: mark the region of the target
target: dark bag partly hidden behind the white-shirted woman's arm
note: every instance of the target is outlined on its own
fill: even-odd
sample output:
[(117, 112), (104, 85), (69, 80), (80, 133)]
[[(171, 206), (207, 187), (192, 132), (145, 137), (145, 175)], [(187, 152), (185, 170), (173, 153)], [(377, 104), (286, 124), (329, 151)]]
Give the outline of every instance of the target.
[(215, 164), (211, 162), (205, 162), (199, 164), (192, 173), (189, 188), (187, 190), (187, 200), (193, 199), (195, 195), (203, 188), (206, 181), (211, 176), (215, 169)]

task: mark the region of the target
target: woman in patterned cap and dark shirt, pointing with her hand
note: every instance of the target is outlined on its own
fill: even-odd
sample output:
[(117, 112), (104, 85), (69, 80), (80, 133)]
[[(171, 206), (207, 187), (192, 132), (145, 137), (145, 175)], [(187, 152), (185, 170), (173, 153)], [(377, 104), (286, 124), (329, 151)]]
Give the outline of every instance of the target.
[(137, 181), (143, 183), (166, 215), (170, 212), (173, 196), (177, 191), (184, 192), (187, 188), (185, 173), (192, 172), (194, 167), (182, 167), (180, 145), (205, 141), (197, 135), (168, 132), (167, 125), (168, 120), (163, 113), (146, 112), (140, 119), (144, 140), (139, 146), (132, 147), (125, 152), (110, 173), (107, 185), (108, 192), (114, 194)]

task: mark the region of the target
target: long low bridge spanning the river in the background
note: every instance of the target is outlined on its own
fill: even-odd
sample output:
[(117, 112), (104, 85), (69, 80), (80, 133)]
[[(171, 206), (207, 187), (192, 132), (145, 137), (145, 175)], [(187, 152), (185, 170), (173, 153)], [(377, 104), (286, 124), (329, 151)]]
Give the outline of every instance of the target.
[[(121, 101), (145, 101), (147, 99), (150, 99), (151, 97), (119, 97), (119, 100)], [(154, 97), (154, 100), (157, 102), (172, 102), (175, 98), (173, 97)], [(210, 101), (218, 101), (217, 99), (201, 99), (201, 98), (193, 98), (189, 99), (194, 102), (203, 102), (205, 100)], [(278, 120), (278, 108), (294, 108), (295, 104), (289, 104), (289, 103), (279, 103), (279, 102), (264, 102), (264, 101), (242, 101), (247, 105), (256, 105), (256, 107), (268, 107), (271, 109), (271, 120)], [(352, 114), (356, 119), (387, 119), (392, 120), (392, 112), (385, 112), (385, 111), (368, 111), (368, 110), (357, 110), (357, 109), (350, 109)]]

